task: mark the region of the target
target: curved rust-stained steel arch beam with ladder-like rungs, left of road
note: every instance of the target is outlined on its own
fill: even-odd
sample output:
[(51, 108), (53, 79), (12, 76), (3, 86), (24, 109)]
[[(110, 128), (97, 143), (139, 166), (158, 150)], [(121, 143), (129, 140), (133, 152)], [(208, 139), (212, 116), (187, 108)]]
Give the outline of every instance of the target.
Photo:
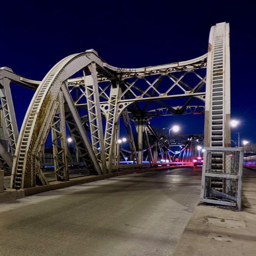
[[(45, 76), (33, 96), (21, 127), (17, 149), (13, 161), (11, 183), (15, 188), (35, 185), (36, 175), (42, 183), (47, 183), (38, 168), (40, 154), (50, 130), (50, 125), (58, 107), (57, 97), (63, 82), (71, 75), (92, 62), (86, 53), (70, 55), (57, 63)], [(89, 139), (84, 132), (86, 145), (93, 166), (99, 174), (101, 169), (91, 150)]]

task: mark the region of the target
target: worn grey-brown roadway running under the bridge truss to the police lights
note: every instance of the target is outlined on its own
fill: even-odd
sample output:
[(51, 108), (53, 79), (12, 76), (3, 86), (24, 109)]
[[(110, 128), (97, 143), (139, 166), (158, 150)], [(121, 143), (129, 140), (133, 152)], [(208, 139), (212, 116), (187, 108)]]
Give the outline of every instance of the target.
[(200, 196), (201, 168), (109, 178), (0, 204), (0, 255), (170, 255)]

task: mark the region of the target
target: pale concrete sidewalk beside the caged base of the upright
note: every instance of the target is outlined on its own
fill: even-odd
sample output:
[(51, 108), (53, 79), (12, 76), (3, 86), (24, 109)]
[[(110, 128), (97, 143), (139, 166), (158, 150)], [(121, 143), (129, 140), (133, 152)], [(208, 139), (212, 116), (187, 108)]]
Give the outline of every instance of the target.
[(256, 178), (243, 179), (242, 211), (198, 204), (172, 255), (256, 255)]

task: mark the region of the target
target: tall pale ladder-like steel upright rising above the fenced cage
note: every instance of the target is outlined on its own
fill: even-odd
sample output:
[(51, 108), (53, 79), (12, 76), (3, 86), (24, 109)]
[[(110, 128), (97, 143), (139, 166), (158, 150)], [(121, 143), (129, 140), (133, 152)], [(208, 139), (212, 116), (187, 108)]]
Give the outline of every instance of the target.
[(205, 103), (205, 146), (230, 147), (230, 48), (229, 24), (210, 31)]

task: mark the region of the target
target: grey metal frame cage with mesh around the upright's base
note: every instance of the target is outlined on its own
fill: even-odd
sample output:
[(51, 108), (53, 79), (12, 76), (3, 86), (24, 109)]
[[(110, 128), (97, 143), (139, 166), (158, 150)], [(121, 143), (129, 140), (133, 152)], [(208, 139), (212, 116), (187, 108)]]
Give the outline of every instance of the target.
[(206, 147), (201, 201), (241, 208), (243, 148)]

